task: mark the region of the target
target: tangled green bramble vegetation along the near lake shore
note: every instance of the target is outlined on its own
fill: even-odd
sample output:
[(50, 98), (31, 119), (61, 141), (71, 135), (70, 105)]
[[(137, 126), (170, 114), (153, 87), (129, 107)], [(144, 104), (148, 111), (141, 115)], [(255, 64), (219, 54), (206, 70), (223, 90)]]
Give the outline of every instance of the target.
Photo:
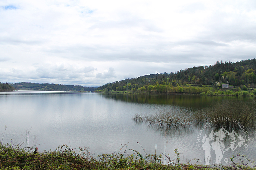
[[(124, 148), (126, 147), (126, 148)], [(123, 149), (124, 148), (124, 149)], [(123, 151), (123, 150), (124, 151)], [(176, 157), (172, 160), (167, 157), (169, 161), (167, 165), (163, 165), (161, 162), (161, 155), (147, 155), (142, 156), (138, 151), (134, 151), (134, 154), (126, 154), (127, 145), (122, 145), (118, 152), (113, 154), (102, 154), (92, 156), (86, 148), (72, 149), (67, 145), (61, 145), (55, 151), (45, 151), (39, 154), (33, 154), (32, 148), (20, 148), (20, 145), (3, 144), (0, 142), (0, 169), (3, 170), (63, 170), (63, 169), (152, 169), (152, 170), (250, 170), (256, 169), (254, 162), (248, 160), (247, 163), (241, 162), (240, 164), (233, 162), (230, 166), (204, 166), (200, 164), (180, 163), (180, 154), (178, 149), (175, 149)], [(233, 160), (234, 156), (231, 160)], [(246, 157), (242, 157), (246, 158)], [(199, 160), (196, 160), (199, 163)]]

